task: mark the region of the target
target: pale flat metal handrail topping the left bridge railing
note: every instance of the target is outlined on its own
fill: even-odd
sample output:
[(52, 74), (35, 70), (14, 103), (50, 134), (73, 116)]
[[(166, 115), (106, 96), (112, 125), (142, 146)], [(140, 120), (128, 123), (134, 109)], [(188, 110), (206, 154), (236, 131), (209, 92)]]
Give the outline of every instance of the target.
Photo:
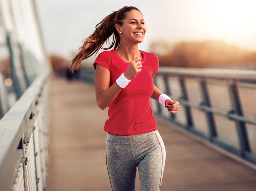
[(42, 86), (49, 78), (50, 71), (46, 69), (26, 89), (13, 107), (0, 120), (0, 182), (8, 169), (9, 159), (15, 156), (22, 133), (25, 133), (30, 124), (30, 115), (35, 112), (35, 101), (42, 91)]

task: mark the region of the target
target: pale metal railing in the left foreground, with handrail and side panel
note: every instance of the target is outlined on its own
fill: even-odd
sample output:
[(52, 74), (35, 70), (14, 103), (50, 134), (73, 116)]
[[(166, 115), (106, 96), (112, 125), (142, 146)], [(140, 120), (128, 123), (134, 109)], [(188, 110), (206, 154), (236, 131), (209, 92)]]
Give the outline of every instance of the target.
[(0, 120), (1, 190), (46, 189), (50, 72), (45, 70)]

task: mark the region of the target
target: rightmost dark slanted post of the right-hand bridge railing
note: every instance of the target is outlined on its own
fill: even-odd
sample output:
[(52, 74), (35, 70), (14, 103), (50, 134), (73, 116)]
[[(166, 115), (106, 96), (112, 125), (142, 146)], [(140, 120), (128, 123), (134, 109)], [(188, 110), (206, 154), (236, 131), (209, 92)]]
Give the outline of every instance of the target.
[[(237, 92), (237, 83), (235, 82), (235, 80), (228, 81), (228, 91), (230, 94), (230, 101), (235, 113), (237, 115), (243, 116), (241, 103), (240, 103), (240, 99)], [(238, 133), (240, 147), (241, 147), (240, 155), (244, 157), (245, 151), (250, 151), (245, 122), (236, 119), (236, 128), (237, 128), (237, 133)]]

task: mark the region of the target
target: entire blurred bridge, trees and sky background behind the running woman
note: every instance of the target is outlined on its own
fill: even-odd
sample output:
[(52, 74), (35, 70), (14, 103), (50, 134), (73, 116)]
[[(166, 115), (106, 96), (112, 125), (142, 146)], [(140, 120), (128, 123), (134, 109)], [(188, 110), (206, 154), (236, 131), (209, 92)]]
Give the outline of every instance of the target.
[(171, 114), (150, 98), (161, 188), (255, 191), (256, 0), (0, 0), (0, 190), (111, 190), (98, 54), (73, 74), (70, 62), (123, 6), (143, 13), (139, 50), (158, 55), (154, 84), (180, 102)]

